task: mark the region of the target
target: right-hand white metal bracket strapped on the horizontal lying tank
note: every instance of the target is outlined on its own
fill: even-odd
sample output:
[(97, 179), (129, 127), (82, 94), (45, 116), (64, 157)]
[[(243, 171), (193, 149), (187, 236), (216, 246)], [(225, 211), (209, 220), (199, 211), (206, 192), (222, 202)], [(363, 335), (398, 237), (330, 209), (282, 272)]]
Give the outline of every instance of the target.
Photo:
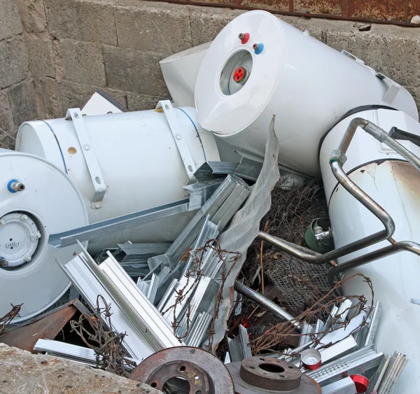
[(188, 174), (188, 179), (190, 180), (188, 183), (196, 183), (197, 180), (195, 179), (194, 173), (197, 171), (197, 165), (194, 162), (193, 155), (191, 155), (190, 148), (188, 148), (183, 131), (181, 127), (179, 127), (179, 121), (176, 118), (175, 110), (171, 101), (159, 101), (158, 106), (156, 106), (156, 111), (163, 111), (165, 113), (169, 129), (174, 136), (176, 147), (179, 150), (179, 154), (181, 155), (181, 159)]

